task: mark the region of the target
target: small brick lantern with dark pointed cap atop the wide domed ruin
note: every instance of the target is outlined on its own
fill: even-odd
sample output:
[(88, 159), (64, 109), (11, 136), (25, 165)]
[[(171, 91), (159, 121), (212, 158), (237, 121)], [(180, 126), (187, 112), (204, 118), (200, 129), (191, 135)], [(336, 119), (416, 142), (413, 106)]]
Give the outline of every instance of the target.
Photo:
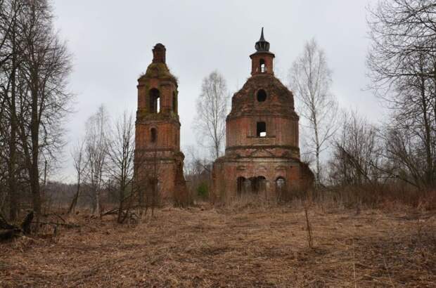
[(274, 74), (273, 59), (275, 56), (274, 53), (269, 52), (269, 42), (265, 40), (263, 27), (255, 48), (256, 52), (250, 55), (251, 74)]

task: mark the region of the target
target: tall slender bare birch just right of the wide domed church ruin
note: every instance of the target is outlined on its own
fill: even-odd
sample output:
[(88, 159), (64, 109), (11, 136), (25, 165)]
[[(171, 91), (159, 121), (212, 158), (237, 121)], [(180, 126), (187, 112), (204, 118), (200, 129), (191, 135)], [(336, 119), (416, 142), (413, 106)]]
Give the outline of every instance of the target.
[(297, 110), (310, 131), (309, 152), (316, 157), (316, 183), (321, 181), (320, 155), (335, 131), (337, 103), (331, 86), (331, 70), (324, 51), (312, 39), (290, 68), (290, 89), (297, 98)]

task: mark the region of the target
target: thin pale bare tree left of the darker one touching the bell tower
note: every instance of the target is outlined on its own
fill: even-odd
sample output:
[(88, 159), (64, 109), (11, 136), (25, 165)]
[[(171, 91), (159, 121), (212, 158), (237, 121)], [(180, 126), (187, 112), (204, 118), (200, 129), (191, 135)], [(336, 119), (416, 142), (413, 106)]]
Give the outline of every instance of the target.
[(100, 215), (100, 194), (108, 164), (108, 115), (103, 105), (86, 121), (86, 148), (88, 159), (86, 180), (91, 186), (93, 212)]

